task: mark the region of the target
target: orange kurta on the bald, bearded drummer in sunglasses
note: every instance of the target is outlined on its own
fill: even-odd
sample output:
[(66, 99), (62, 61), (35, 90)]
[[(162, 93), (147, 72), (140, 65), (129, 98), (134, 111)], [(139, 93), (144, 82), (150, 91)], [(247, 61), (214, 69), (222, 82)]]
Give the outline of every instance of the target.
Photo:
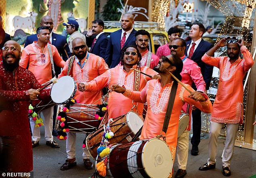
[[(61, 74), (59, 74), (58, 78), (67, 75), (69, 60), (70, 58), (66, 61), (65, 66), (61, 71)], [(89, 82), (93, 80), (94, 78), (103, 74), (108, 69), (108, 66), (103, 58), (89, 52), (87, 52), (87, 56), (81, 62), (82, 64), (85, 62), (82, 68), (78, 64), (78, 61), (79, 60), (77, 58), (74, 59), (72, 69), (69, 74), (76, 81), (77, 86), (79, 83)], [(101, 90), (84, 92), (80, 92), (79, 90), (77, 90), (74, 98), (76, 100), (79, 100), (80, 103), (83, 104), (92, 104), (95, 101), (99, 100), (97, 103), (94, 103), (96, 105), (102, 103), (100, 99), (101, 96)]]

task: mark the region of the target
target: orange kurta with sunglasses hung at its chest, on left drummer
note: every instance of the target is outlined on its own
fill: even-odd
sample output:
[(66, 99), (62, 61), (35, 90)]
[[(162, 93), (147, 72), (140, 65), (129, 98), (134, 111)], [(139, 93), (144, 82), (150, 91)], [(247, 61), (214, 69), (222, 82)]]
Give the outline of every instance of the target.
[[(63, 68), (65, 61), (62, 60), (57, 48), (51, 44), (50, 47), (52, 50), (53, 61), (58, 67)], [(43, 52), (36, 46), (36, 42), (26, 46), (23, 49), (19, 65), (26, 69), (27, 64), (29, 65), (29, 71), (34, 73), (40, 84), (44, 84), (52, 79), (52, 65), (47, 44), (45, 45)]]

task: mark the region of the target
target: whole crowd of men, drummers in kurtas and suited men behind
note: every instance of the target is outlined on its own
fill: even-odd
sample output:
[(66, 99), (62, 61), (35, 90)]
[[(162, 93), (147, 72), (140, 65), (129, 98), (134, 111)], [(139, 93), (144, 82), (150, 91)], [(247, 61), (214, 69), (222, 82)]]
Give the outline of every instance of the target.
[[(153, 54), (148, 49), (149, 32), (145, 29), (136, 31), (133, 24), (133, 15), (125, 13), (121, 18), (122, 28), (111, 33), (108, 39), (103, 31), (102, 20), (92, 21), (92, 27), (83, 35), (78, 31), (78, 22), (71, 19), (63, 23), (70, 35), (67, 41), (64, 36), (52, 32), (52, 18), (44, 16), (36, 34), (27, 37), (22, 52), (17, 42), (4, 40), (6, 34), (0, 28), (0, 45), (3, 46), (0, 51), (0, 140), (3, 143), (0, 160), (4, 160), (1, 161), (1, 171), (33, 170), (32, 148), (39, 146), (40, 129), (35, 127), (35, 121), (31, 117), (32, 138), (30, 137), (27, 121), (29, 103), (36, 98), (43, 100), (50, 97), (50, 87), (41, 91), (38, 89), (52, 77), (70, 75), (79, 89), (74, 98), (81, 104), (102, 104), (102, 89), (109, 88), (109, 118), (128, 113), (134, 109), (134, 105), (134, 112), (142, 117), (143, 104), (147, 103), (141, 139), (157, 136), (166, 121), (165, 117), (169, 117), (166, 143), (172, 158), (177, 156), (178, 170), (175, 178), (183, 178), (187, 174), (191, 127), (189, 121), (185, 132), (180, 137), (177, 136), (180, 114), (185, 112), (190, 117), (192, 115), (191, 155), (198, 155), (201, 111), (212, 113), (209, 159), (199, 170), (215, 168), (218, 136), (222, 125), (227, 123), (222, 174), (231, 175), (235, 136), (238, 124), (243, 121), (242, 80), (246, 71), (254, 64), (243, 40), (223, 38), (213, 46), (202, 39), (205, 27), (197, 22), (191, 26), (190, 41), (179, 38), (180, 29), (172, 27), (168, 30), (169, 42), (160, 46), (156, 54)], [(223, 46), (227, 46), (228, 57), (214, 57), (214, 52)], [(241, 53), (243, 59), (239, 57)], [(206, 91), (210, 87), (213, 66), (220, 69), (220, 83), (212, 106)], [(185, 86), (179, 84), (173, 75)], [(166, 116), (170, 108), (172, 112)], [(59, 144), (53, 140), (53, 136), (57, 135), (53, 129), (56, 107), (46, 109), (42, 115), (46, 145), (59, 148)], [(7, 118), (11, 119), (7, 121)], [(8, 132), (8, 128), (15, 132)], [(22, 146), (17, 144), (21, 137)], [(75, 144), (76, 133), (68, 132), (67, 159), (61, 170), (76, 166)], [(82, 157), (85, 168), (92, 169), (93, 163), (86, 148), (83, 148)], [(16, 160), (19, 159), (24, 162), (22, 166), (17, 166)], [(169, 177), (172, 177), (172, 173), (173, 171)]]

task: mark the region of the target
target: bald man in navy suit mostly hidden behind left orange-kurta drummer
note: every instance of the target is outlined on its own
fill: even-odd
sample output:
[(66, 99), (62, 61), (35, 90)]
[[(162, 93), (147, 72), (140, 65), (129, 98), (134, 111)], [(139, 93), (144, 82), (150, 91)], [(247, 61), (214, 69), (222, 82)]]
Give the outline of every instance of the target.
[[(52, 17), (50, 17), (48, 15), (42, 17), (40, 26), (48, 26), (48, 27), (50, 27), (50, 29), (53, 29)], [(26, 39), (24, 48), (27, 45), (32, 44), (34, 41), (38, 41), (36, 34), (28, 36)], [(59, 54), (61, 55), (62, 59), (64, 61), (67, 61), (67, 59), (70, 57), (70, 50), (69, 50), (69, 46), (67, 44), (66, 38), (64, 36), (61, 36), (61, 35), (58, 35), (58, 34), (55, 34), (52, 32), (50, 34), (50, 44), (55, 46), (57, 48)], [(65, 44), (66, 44), (66, 46), (65, 46)], [(64, 46), (65, 46), (65, 48), (64, 48)], [(67, 54), (64, 49), (66, 50)], [(54, 68), (55, 68), (56, 75), (58, 77), (58, 75), (61, 73), (61, 68), (58, 67), (55, 63), (54, 63)]]

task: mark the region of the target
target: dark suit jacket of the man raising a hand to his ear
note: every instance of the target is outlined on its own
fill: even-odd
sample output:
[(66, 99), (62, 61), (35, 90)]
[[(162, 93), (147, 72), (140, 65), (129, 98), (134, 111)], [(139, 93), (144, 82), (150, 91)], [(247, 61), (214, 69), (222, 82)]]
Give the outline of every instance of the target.
[[(87, 46), (91, 47), (92, 46), (92, 42), (94, 40), (95, 36), (92, 37), (87, 37), (86, 36), (86, 44)], [(107, 49), (107, 42), (108, 39), (105, 36), (105, 34), (101, 34), (99, 36), (99, 38), (95, 41), (94, 45), (91, 47), (90, 49), (90, 53), (95, 54), (99, 57), (102, 57), (104, 59), (105, 57), (105, 53), (106, 53), (106, 49)]]

